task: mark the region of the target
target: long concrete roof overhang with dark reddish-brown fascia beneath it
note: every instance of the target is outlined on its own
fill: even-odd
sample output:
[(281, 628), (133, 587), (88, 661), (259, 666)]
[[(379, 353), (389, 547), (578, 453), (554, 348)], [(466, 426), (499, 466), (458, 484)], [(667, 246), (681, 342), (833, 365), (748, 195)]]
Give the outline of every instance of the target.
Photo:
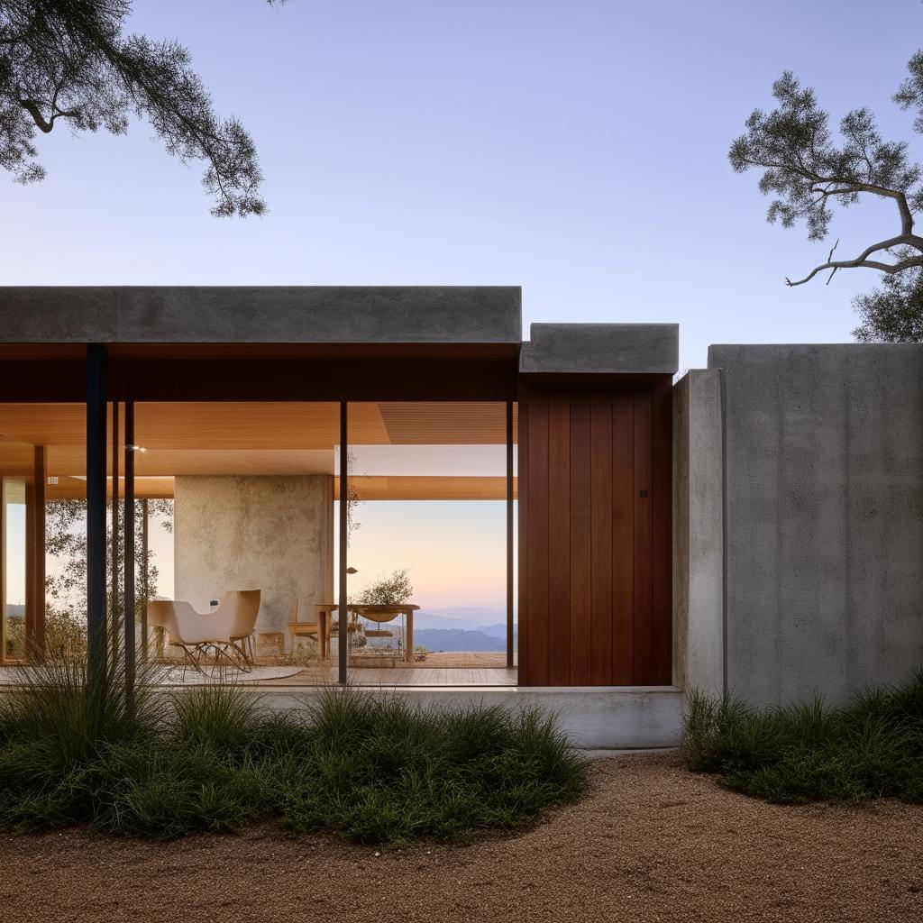
[(0, 401), (512, 400), (517, 286), (0, 287)]

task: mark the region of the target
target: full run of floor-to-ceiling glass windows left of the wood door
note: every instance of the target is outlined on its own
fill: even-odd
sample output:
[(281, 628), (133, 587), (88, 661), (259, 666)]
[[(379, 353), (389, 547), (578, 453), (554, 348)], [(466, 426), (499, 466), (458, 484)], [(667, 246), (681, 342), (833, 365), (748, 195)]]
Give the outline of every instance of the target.
[[(335, 681), (341, 405), (137, 402), (131, 439), (128, 409), (110, 403), (107, 421), (114, 646), (125, 626), (131, 541), (142, 656), (166, 665), (183, 660), (176, 639), (147, 624), (150, 601), (188, 603), (208, 615), (228, 593), (258, 590), (248, 656), (273, 681)], [(347, 418), (350, 680), (515, 682), (507, 669), (515, 651), (515, 635), (512, 650), (508, 643), (515, 516), (509, 530), (507, 405), (354, 402)], [(4, 664), (28, 655), (42, 624), (43, 640), (86, 651), (86, 474), (84, 404), (0, 405)], [(369, 608), (376, 605), (398, 608)]]

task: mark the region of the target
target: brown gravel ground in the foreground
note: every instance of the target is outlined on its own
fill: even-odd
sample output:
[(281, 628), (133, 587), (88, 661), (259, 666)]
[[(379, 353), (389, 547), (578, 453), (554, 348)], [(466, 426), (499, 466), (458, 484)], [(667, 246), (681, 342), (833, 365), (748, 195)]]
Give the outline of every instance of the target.
[(269, 829), (172, 844), (0, 838), (0, 920), (923, 919), (923, 808), (763, 804), (662, 756), (517, 837), (377, 855)]

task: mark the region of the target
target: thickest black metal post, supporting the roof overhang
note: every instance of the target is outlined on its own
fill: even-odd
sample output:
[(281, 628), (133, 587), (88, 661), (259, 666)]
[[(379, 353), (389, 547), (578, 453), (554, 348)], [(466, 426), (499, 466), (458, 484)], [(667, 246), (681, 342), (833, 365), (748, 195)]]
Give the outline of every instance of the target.
[(106, 351), (87, 346), (87, 672), (106, 674)]

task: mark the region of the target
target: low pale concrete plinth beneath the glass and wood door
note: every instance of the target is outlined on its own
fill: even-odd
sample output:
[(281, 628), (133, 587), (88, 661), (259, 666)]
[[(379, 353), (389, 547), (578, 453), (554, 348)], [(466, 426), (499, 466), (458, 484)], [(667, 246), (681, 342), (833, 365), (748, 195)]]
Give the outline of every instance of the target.
[[(321, 689), (254, 689), (261, 701), (280, 711), (303, 709)], [(682, 728), (683, 694), (672, 686), (569, 687), (365, 687), (372, 695), (399, 695), (424, 708), (472, 703), (503, 708), (541, 707), (556, 713), (561, 726), (581, 749), (676, 747)]]

